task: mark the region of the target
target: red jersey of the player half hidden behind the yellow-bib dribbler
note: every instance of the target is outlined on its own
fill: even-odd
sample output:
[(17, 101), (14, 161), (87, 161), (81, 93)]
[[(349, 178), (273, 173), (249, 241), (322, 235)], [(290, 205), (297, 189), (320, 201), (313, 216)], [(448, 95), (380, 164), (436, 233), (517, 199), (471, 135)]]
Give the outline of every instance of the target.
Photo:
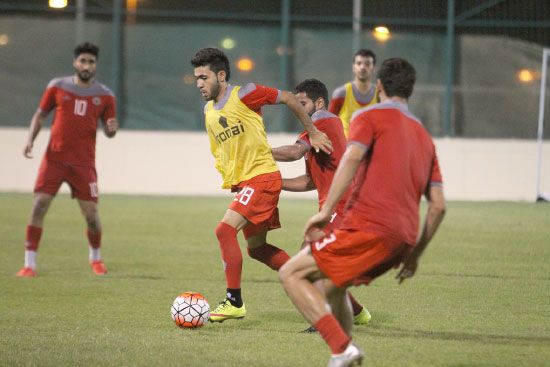
[[(306, 173), (317, 188), (319, 209), (321, 209), (327, 199), (328, 190), (330, 189), (330, 184), (334, 178), (336, 168), (338, 164), (340, 164), (340, 159), (342, 159), (342, 155), (344, 155), (346, 151), (346, 138), (344, 136), (342, 120), (335, 114), (326, 110), (319, 110), (311, 116), (311, 120), (318, 130), (327, 134), (334, 149), (330, 155), (323, 151), (316, 153), (315, 150), (311, 148), (307, 132), (303, 132), (298, 137), (299, 143), (305, 144), (310, 148), (304, 156), (306, 161)], [(340, 203), (336, 207), (336, 213), (343, 213), (343, 208), (348, 197), (348, 194), (342, 197), (342, 200), (340, 200)]]

